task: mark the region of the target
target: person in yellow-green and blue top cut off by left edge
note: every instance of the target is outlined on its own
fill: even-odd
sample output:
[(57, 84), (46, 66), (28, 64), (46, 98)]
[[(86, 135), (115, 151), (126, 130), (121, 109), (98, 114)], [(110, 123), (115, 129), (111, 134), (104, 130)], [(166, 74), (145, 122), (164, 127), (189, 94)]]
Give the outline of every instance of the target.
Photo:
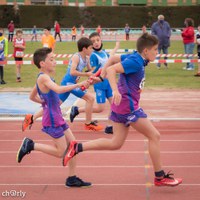
[[(8, 55), (8, 40), (4, 36), (4, 30), (3, 28), (0, 28), (0, 61), (5, 61), (6, 57)], [(0, 84), (6, 84), (6, 82), (3, 79), (4, 76), (4, 65), (0, 64)]]

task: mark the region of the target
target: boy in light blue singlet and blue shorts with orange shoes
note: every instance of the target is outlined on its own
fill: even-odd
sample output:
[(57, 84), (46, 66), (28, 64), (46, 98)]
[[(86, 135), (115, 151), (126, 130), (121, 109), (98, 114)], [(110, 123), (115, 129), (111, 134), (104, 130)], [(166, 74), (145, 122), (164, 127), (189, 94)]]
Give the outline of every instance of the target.
[[(67, 73), (65, 74), (61, 82), (61, 85), (73, 85), (77, 82), (80, 76), (90, 77), (92, 75), (88, 60), (88, 56), (90, 56), (93, 51), (92, 42), (90, 39), (82, 37), (81, 39), (78, 40), (77, 45), (79, 52), (75, 53), (70, 59), (69, 66), (67, 68)], [(85, 67), (87, 67), (88, 72), (83, 72)], [(61, 100), (61, 103), (68, 98), (70, 93), (86, 101), (85, 105), (86, 121), (84, 125), (85, 129), (95, 130), (95, 131), (102, 130), (103, 127), (101, 125), (98, 125), (97, 122), (92, 121), (92, 108), (94, 103), (94, 98), (92, 94), (90, 94), (87, 91), (82, 91), (80, 88), (76, 88), (71, 91), (60, 94), (59, 98)], [(42, 115), (41, 111), (35, 113), (34, 116), (32, 114), (26, 115), (25, 120), (22, 124), (22, 130), (24, 131), (28, 126), (33, 124), (33, 122), (38, 117), (41, 117), (41, 115)]]

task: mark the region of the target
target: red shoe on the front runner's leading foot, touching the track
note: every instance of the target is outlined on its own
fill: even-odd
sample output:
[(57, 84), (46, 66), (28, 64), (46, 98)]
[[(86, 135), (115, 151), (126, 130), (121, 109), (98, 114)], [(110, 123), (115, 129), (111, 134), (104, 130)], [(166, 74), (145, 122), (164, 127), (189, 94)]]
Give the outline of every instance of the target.
[(181, 178), (173, 178), (171, 177), (174, 174), (170, 174), (169, 172), (164, 175), (162, 179), (155, 178), (154, 185), (155, 186), (177, 186), (182, 183)]

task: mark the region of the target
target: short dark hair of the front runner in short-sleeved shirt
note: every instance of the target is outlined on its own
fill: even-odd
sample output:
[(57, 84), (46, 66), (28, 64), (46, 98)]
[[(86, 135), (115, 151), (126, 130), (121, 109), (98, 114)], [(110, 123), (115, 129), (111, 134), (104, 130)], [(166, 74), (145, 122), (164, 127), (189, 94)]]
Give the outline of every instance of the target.
[(149, 33), (142, 34), (136, 43), (137, 51), (142, 53), (145, 48), (151, 48), (158, 44), (158, 38)]

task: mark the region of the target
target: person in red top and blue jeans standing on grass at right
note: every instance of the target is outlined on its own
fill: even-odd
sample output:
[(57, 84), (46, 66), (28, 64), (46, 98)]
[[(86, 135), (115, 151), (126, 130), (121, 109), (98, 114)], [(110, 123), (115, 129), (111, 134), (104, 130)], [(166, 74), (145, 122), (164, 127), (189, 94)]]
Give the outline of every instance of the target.
[[(185, 54), (188, 54), (187, 59), (192, 59), (194, 52), (194, 21), (192, 18), (186, 18), (184, 21), (185, 28), (183, 29), (181, 35), (183, 38)], [(186, 67), (183, 67), (184, 70), (194, 70), (193, 63), (187, 63)]]

